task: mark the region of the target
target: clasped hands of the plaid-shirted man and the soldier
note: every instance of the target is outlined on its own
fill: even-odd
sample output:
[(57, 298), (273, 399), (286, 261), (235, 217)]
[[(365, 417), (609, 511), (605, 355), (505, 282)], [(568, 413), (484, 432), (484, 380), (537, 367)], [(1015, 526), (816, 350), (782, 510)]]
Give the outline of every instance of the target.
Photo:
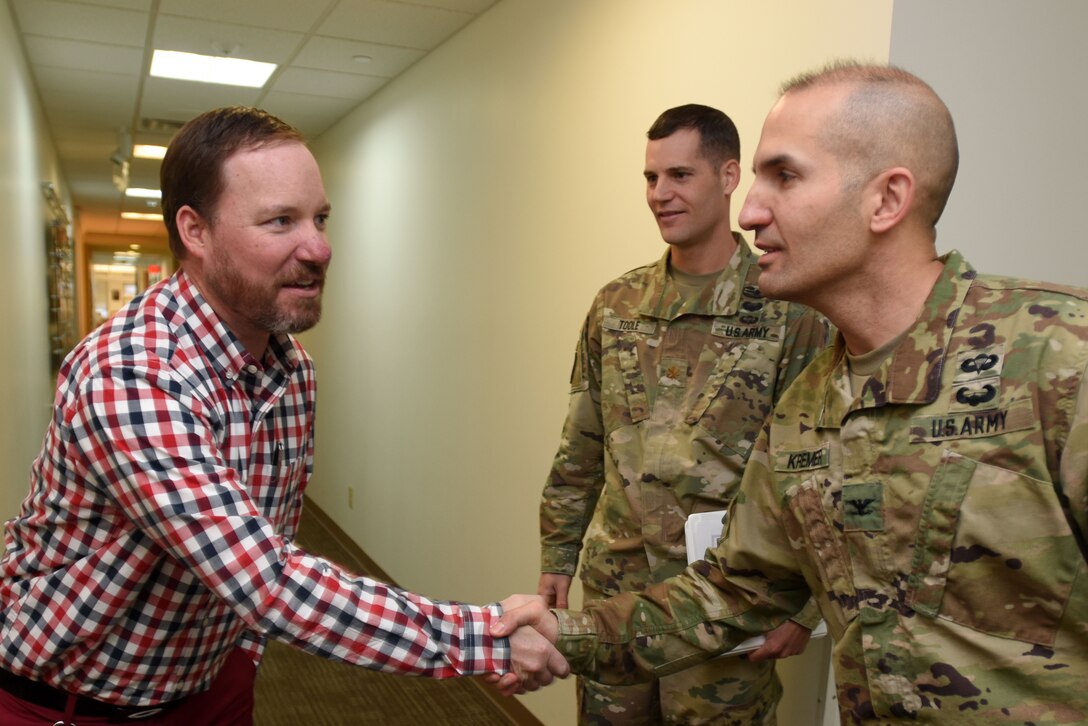
[[(500, 677), (487, 676), (484, 680), (503, 696), (514, 696), (535, 691), (556, 677), (566, 678), (570, 674), (570, 665), (553, 645), (559, 633), (559, 624), (544, 599), (540, 595), (510, 595), (499, 604), (503, 617), (492, 624), (491, 635), (495, 638), (509, 637), (512, 670)], [(534, 629), (537, 626), (541, 632)]]

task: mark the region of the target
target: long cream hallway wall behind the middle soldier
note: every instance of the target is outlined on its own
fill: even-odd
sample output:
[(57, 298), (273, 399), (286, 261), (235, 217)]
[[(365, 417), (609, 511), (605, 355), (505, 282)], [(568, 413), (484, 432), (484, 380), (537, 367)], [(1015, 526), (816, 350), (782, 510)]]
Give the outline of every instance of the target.
[[(319, 139), (334, 261), (305, 339), (321, 380), (311, 497), (408, 588), (535, 590), (582, 318), (664, 248), (645, 130), (679, 103), (730, 113), (745, 147), (735, 217), (778, 84), (838, 54), (887, 59), (891, 11), (503, 0)], [(572, 693), (524, 703), (568, 724)]]

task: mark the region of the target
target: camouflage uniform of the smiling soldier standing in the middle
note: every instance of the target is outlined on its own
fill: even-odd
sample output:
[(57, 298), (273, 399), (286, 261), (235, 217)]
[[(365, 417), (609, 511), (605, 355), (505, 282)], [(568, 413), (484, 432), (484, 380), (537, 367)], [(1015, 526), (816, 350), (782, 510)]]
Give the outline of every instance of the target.
[[(683, 570), (685, 518), (729, 504), (772, 402), (827, 344), (821, 318), (761, 296), (756, 257), (735, 239), (698, 298), (681, 297), (666, 253), (606, 285), (590, 309), (541, 506), (542, 570), (573, 576), (584, 536), (586, 601)], [(815, 606), (801, 619), (815, 626)], [(781, 694), (772, 663), (743, 659), (668, 680), (662, 710), (677, 723), (774, 723)], [(583, 685), (590, 723), (654, 723), (653, 686)]]

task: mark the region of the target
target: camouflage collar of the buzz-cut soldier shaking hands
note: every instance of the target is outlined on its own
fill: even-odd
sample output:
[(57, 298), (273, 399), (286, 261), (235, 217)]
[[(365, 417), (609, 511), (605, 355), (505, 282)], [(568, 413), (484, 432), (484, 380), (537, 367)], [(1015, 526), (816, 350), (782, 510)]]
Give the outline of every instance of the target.
[[(914, 328), (866, 383), (863, 394), (851, 409), (887, 404), (928, 404), (937, 399), (949, 339), (967, 292), (978, 276), (956, 250), (940, 259), (944, 269), (929, 292)], [(845, 354), (842, 333), (838, 333), (832, 353), (832, 374), (824, 391), (820, 426), (838, 428), (849, 413), (844, 406), (850, 406), (850, 401), (843, 398), (843, 387), (836, 384), (849, 376)]]

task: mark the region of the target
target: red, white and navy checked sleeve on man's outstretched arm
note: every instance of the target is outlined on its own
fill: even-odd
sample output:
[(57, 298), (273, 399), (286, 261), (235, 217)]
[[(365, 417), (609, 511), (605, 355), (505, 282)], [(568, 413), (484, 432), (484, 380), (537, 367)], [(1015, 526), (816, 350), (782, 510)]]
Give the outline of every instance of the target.
[[(169, 370), (87, 380), (71, 409), (87, 485), (259, 636), (370, 668), (443, 678), (509, 669), (497, 606), (432, 601), (343, 571), (276, 534), (215, 440), (217, 413)], [(150, 543), (149, 543), (150, 546)], [(247, 640), (259, 652), (257, 640)]]

